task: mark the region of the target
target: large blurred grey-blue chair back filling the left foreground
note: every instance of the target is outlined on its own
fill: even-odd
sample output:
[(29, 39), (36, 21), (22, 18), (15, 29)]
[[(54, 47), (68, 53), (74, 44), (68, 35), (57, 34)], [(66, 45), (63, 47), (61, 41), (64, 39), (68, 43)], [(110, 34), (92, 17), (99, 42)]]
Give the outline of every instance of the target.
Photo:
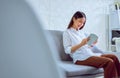
[(0, 0), (0, 78), (64, 78), (26, 0)]

